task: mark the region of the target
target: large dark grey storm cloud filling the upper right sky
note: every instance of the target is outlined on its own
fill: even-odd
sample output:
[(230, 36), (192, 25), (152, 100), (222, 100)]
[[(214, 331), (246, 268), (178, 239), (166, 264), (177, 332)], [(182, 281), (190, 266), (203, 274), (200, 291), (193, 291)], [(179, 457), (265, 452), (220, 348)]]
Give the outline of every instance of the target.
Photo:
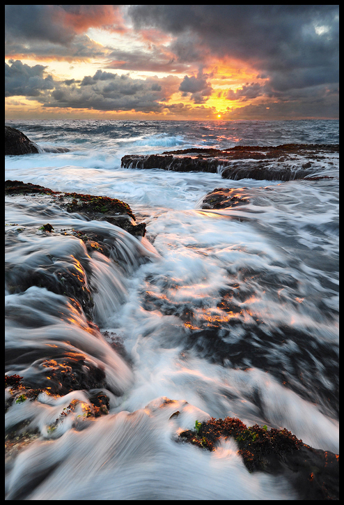
[(338, 6), (130, 6), (136, 29), (177, 37), (180, 61), (239, 59), (272, 88), (338, 82)]

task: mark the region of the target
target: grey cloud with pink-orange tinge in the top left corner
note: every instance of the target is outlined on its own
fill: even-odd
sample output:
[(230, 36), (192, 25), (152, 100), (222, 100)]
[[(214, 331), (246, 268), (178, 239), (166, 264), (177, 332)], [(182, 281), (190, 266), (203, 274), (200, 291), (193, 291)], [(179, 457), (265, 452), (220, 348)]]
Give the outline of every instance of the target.
[(6, 6), (9, 57), (82, 61), (109, 52), (84, 33), (90, 27), (123, 31), (118, 6)]

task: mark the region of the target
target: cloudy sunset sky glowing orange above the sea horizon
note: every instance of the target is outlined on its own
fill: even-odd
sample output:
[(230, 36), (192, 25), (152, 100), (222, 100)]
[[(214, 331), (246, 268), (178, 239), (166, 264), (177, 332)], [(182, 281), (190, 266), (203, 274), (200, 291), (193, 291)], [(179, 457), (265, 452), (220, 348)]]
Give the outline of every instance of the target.
[(338, 6), (6, 6), (6, 119), (338, 119)]

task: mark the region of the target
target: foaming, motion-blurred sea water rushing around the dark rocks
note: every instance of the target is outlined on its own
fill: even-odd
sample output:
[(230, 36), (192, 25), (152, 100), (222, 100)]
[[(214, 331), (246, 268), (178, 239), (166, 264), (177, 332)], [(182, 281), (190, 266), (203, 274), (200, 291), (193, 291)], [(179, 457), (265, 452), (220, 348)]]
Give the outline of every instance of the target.
[[(235, 442), (210, 453), (176, 439), (196, 420), (231, 416), (338, 453), (338, 156), (317, 161), (328, 179), (287, 182), (125, 169), (120, 159), (338, 144), (338, 121), (6, 124), (40, 153), (6, 156), (5, 180), (118, 198), (147, 225), (134, 238), (48, 201), (6, 197), (6, 374), (49, 390), (70, 372), (67, 358), (84, 356), (80, 373), (104, 376), (101, 389), (10, 405), (7, 429), (34, 439), (8, 458), (7, 499), (295, 499), (283, 478), (250, 474)], [(201, 209), (214, 188), (245, 188), (248, 202)], [(43, 237), (45, 223), (55, 233)], [(116, 262), (62, 234), (87, 227), (107, 234)], [(99, 331), (68, 296), (21, 288), (28, 271), (84, 276)], [(109, 414), (88, 419), (100, 391)]]

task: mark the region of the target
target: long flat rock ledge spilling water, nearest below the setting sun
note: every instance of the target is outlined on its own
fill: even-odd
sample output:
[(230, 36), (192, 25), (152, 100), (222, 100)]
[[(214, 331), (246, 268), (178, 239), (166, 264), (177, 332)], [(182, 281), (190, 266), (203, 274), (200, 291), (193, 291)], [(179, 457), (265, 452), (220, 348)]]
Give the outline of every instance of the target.
[[(123, 156), (125, 168), (159, 168), (174, 172), (220, 172), (223, 179), (290, 181), (311, 178), (338, 144), (235, 146), (230, 149), (184, 149), (162, 154)], [(305, 158), (306, 160), (305, 163)]]

